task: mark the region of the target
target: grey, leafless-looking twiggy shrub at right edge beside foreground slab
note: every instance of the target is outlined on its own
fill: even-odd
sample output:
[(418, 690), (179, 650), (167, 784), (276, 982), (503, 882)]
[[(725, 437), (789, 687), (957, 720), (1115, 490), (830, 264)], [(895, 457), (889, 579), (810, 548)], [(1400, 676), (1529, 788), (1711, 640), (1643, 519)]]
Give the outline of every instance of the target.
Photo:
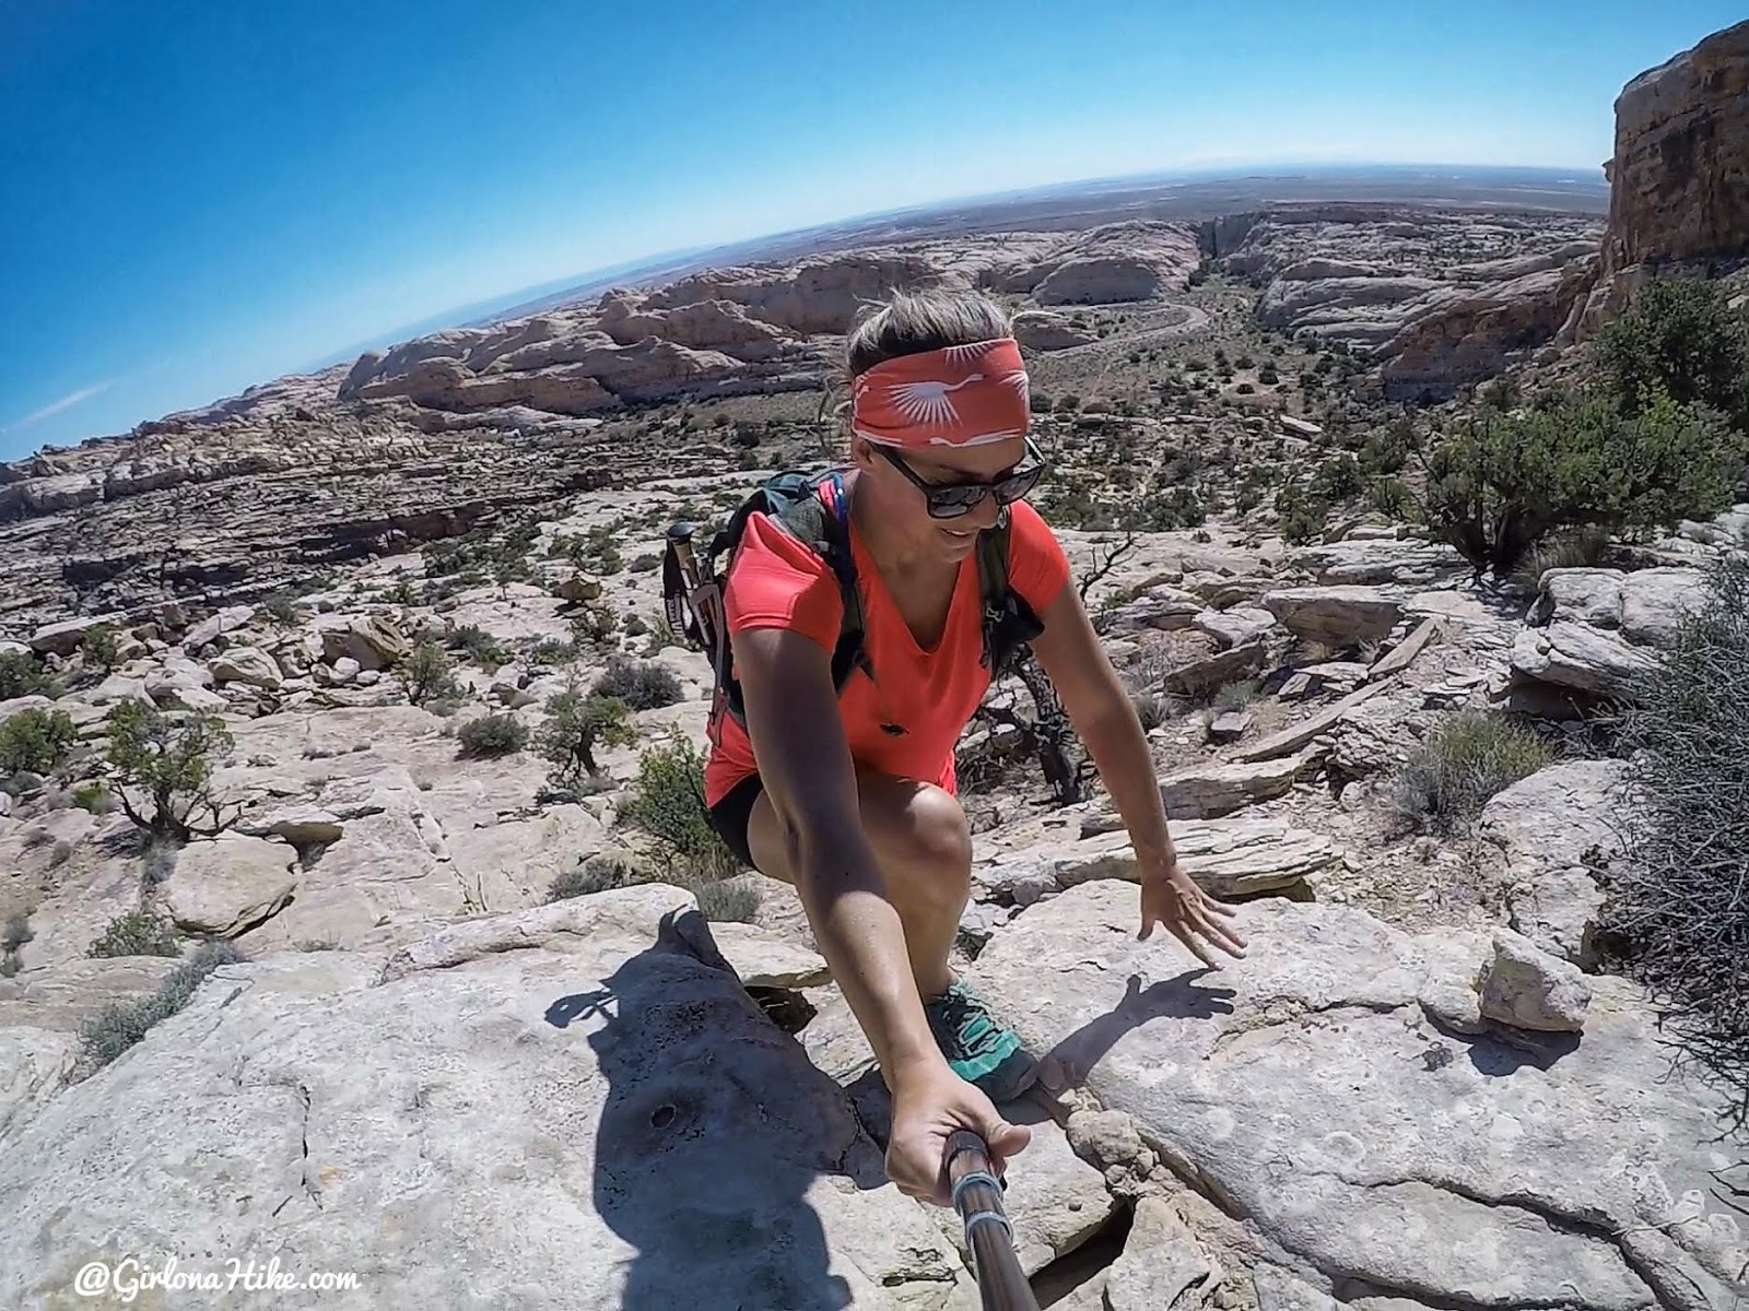
[(1607, 876), (1613, 961), (1648, 986), (1684, 1061), (1749, 1119), (1749, 561), (1705, 601), (1618, 722), (1625, 857)]

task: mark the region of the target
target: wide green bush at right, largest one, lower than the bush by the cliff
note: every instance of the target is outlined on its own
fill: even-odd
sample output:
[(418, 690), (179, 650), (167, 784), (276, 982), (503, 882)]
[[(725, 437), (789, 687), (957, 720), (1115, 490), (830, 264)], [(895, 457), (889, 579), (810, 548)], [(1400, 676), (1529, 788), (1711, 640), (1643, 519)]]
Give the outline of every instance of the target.
[(1429, 526), (1476, 573), (1506, 577), (1558, 528), (1705, 519), (1732, 500), (1744, 442), (1711, 411), (1658, 397), (1637, 414), (1564, 393), (1529, 411), (1478, 409), (1427, 461)]

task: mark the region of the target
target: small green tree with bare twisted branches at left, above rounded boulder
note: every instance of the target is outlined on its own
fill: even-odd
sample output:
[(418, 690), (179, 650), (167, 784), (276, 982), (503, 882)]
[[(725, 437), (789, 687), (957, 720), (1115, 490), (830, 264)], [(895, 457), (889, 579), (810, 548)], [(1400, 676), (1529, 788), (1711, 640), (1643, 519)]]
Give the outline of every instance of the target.
[(143, 701), (122, 701), (108, 713), (103, 760), (110, 792), (135, 827), (152, 836), (178, 843), (210, 837), (234, 818), (212, 792), (215, 757), (233, 745), (217, 715), (166, 715)]

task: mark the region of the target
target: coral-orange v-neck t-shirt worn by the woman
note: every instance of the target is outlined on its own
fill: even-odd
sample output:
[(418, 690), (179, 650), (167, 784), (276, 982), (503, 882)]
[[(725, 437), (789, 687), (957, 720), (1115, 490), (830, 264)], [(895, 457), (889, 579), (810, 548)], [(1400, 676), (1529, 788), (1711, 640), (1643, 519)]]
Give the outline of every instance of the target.
[[(1037, 614), (1069, 580), (1069, 561), (1055, 533), (1027, 502), (1009, 507), (1007, 580)], [(990, 687), (983, 666), (978, 554), (960, 561), (941, 640), (923, 650), (869, 558), (855, 523), (850, 551), (862, 589), (862, 642), (874, 678), (855, 669), (838, 697), (852, 759), (866, 769), (955, 790), (953, 746)], [(763, 514), (747, 519), (724, 587), (729, 633), (789, 628), (827, 654), (838, 645), (843, 601), (831, 566)], [(899, 725), (902, 734), (883, 725)], [(705, 760), (705, 802), (715, 806), (757, 773), (747, 731), (729, 715)]]

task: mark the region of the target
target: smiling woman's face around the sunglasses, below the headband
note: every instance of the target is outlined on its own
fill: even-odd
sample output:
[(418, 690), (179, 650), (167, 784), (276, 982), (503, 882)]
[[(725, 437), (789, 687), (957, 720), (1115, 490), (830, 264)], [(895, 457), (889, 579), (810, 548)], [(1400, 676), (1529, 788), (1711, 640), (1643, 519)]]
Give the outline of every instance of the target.
[[(960, 561), (978, 544), (978, 533), (995, 526), (1000, 505), (985, 495), (972, 509), (951, 519), (930, 516), (925, 493), (916, 482), (951, 486), (955, 482), (993, 482), (1025, 460), (1023, 437), (1009, 437), (988, 446), (894, 449), (864, 437), (852, 437), (861, 484), (881, 526), (922, 556)], [(904, 463), (904, 468), (894, 465)], [(911, 477), (906, 477), (906, 472)], [(916, 479), (916, 481), (913, 481)], [(864, 495), (859, 491), (859, 495)]]

